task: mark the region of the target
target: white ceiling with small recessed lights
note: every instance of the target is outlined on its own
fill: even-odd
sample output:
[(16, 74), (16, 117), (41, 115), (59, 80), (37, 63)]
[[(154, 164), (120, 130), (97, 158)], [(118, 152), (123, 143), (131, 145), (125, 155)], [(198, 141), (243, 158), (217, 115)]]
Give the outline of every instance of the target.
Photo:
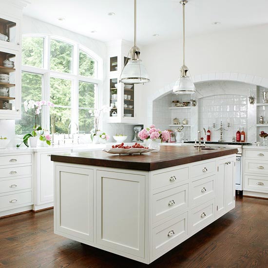
[[(31, 0), (24, 15), (105, 42), (121, 38), (132, 41), (133, 6), (134, 0)], [(186, 34), (265, 24), (267, 10), (268, 0), (189, 0)], [(115, 15), (108, 16), (109, 12)], [(179, 38), (181, 15), (179, 0), (137, 0), (137, 42), (150, 44)], [(220, 24), (215, 25), (216, 21)]]

